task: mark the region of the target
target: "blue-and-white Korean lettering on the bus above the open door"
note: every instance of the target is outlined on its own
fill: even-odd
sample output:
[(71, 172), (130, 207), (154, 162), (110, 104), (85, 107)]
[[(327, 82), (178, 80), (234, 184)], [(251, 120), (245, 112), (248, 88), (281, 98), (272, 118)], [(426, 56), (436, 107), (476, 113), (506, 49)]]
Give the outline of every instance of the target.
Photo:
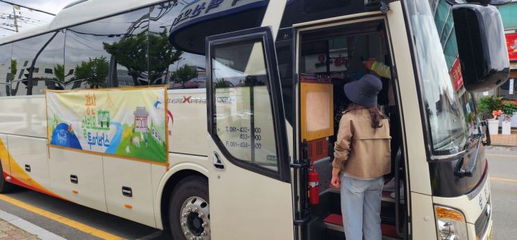
[(217, 15), (226, 10), (237, 9), (243, 6), (251, 6), (251, 3), (264, 3), (264, 0), (200, 0), (187, 5), (181, 10), (180, 15), (174, 19), (171, 31), (181, 24), (198, 20), (207, 15)]

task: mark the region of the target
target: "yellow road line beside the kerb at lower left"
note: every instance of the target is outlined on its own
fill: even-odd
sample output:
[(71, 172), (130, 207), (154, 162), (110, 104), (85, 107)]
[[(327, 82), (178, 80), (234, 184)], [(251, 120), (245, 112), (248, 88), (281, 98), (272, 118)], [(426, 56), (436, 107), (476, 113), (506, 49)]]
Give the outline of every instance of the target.
[(92, 234), (95, 237), (99, 237), (101, 239), (124, 239), (122, 237), (119, 237), (114, 234), (110, 234), (108, 232), (104, 232), (103, 230), (99, 230), (96, 228), (92, 228), (89, 225), (85, 225), (83, 223), (79, 223), (78, 221), (74, 221), (71, 219), (67, 219), (64, 216), (60, 216), (58, 214), (54, 214), (52, 212), (42, 210), (39, 207), (35, 207), (33, 205), (30, 205), (28, 203), (24, 203), (22, 201), (19, 201), (17, 199), (13, 199), (10, 196), (6, 196), (3, 194), (0, 194), (0, 200), (6, 201), (8, 203), (11, 203), (12, 205), (16, 205), (17, 207), (21, 207), (25, 210), (34, 212), (35, 214), (39, 214), (41, 216), (46, 217), (47, 219), (52, 219), (53, 221), (57, 221), (59, 223), (65, 224), (71, 228), (75, 228), (77, 230), (80, 230), (81, 232), (86, 232), (87, 234)]

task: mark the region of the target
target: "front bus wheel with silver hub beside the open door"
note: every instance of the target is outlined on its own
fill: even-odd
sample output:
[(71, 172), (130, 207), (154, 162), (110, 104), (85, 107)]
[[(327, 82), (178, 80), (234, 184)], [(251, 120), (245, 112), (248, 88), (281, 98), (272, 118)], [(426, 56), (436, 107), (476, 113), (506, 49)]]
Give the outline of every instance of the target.
[(173, 239), (209, 240), (210, 206), (206, 178), (189, 176), (174, 188), (169, 201)]

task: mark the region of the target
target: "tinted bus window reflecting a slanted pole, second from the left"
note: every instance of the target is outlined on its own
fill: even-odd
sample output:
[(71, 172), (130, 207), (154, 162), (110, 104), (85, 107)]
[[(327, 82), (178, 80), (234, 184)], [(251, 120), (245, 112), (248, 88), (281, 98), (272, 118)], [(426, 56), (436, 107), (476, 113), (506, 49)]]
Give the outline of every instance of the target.
[[(46, 33), (31, 37), (12, 44), (11, 72), (16, 73), (10, 82), (11, 95), (43, 94), (48, 82), (54, 75), (31, 73), (31, 66), (35, 68), (53, 68), (62, 64), (62, 33)], [(43, 49), (45, 48), (46, 49)], [(56, 54), (57, 53), (57, 54)], [(52, 55), (61, 55), (53, 59)], [(37, 56), (37, 58), (35, 58)], [(40, 60), (40, 57), (42, 60)], [(14, 68), (14, 69), (13, 69)]]

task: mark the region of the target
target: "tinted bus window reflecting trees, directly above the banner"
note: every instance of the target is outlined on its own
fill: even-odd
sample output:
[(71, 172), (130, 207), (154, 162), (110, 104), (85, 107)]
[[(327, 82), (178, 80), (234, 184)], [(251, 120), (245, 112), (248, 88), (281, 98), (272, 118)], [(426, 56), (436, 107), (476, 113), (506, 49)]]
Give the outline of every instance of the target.
[(66, 89), (148, 85), (149, 8), (67, 28)]

